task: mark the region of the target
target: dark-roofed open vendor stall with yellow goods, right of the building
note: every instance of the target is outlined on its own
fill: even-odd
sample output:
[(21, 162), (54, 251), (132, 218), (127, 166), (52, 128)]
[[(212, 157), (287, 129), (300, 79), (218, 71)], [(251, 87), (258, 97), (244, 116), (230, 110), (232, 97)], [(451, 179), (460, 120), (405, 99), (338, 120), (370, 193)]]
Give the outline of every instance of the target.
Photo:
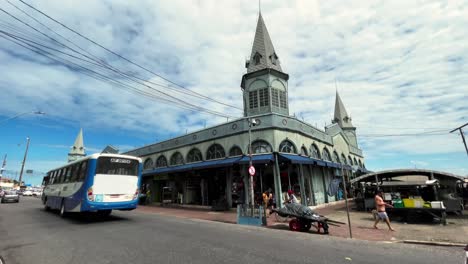
[(446, 223), (447, 212), (463, 212), (462, 194), (457, 182), (461, 177), (427, 170), (392, 170), (366, 174), (351, 181), (358, 210), (375, 209), (375, 191), (383, 191), (391, 215), (405, 222), (437, 219)]

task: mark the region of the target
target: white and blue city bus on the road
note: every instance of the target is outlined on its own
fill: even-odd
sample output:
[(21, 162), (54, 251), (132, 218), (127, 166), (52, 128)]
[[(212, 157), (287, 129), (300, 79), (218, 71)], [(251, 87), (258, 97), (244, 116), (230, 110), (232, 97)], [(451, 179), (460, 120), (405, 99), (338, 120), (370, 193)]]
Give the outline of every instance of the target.
[(141, 159), (118, 154), (93, 154), (51, 170), (44, 177), (42, 202), (46, 210), (98, 212), (137, 207)]

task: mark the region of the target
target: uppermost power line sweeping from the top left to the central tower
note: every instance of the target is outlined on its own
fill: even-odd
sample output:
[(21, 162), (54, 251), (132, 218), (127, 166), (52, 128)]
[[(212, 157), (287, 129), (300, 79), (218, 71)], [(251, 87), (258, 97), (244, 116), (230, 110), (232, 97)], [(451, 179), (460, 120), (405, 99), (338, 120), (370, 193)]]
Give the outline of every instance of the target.
[[(6, 1), (8, 1), (8, 0), (6, 0)], [(31, 6), (30, 4), (24, 2), (23, 0), (19, 0), (19, 1), (20, 1), (21, 3), (23, 3), (24, 5), (28, 6), (29, 8), (31, 8), (31, 9), (35, 10), (36, 12), (42, 14), (43, 16), (47, 17), (48, 19), (50, 19), (50, 20), (54, 21), (55, 23), (59, 24), (60, 26), (62, 26), (62, 27), (64, 27), (64, 28), (68, 29), (69, 31), (75, 33), (76, 35), (78, 35), (78, 36), (80, 36), (80, 37), (86, 39), (87, 41), (93, 43), (94, 45), (99, 46), (100, 48), (106, 50), (107, 52), (109, 52), (109, 53), (111, 53), (111, 54), (117, 56), (118, 58), (120, 58), (120, 59), (122, 59), (122, 60), (125, 60), (125, 61), (127, 61), (128, 63), (130, 63), (130, 64), (132, 64), (132, 65), (134, 65), (134, 66), (137, 66), (138, 68), (140, 68), (140, 69), (142, 69), (142, 70), (145, 70), (145, 71), (147, 71), (147, 72), (149, 72), (149, 73), (151, 73), (151, 74), (153, 74), (153, 75), (155, 75), (155, 76), (157, 76), (157, 77), (159, 77), (159, 78), (165, 80), (165, 81), (168, 82), (168, 83), (171, 83), (171, 84), (173, 84), (173, 85), (175, 85), (175, 86), (177, 86), (177, 87), (180, 87), (180, 88), (182, 88), (182, 89), (188, 90), (188, 91), (190, 91), (191, 93), (196, 94), (196, 95), (198, 95), (198, 96), (201, 96), (201, 97), (203, 97), (204, 99), (210, 100), (210, 101), (212, 101), (212, 102), (216, 102), (216, 103), (218, 103), (218, 104), (222, 104), (222, 105), (224, 105), (224, 106), (232, 107), (232, 108), (235, 108), (235, 109), (238, 109), (238, 110), (243, 111), (243, 109), (241, 109), (241, 108), (239, 108), (239, 107), (237, 107), (237, 106), (233, 106), (233, 105), (229, 105), (229, 104), (223, 103), (223, 102), (218, 101), (218, 100), (215, 100), (215, 99), (213, 99), (213, 98), (211, 98), (211, 97), (208, 97), (208, 96), (205, 96), (205, 95), (203, 95), (203, 94), (199, 94), (199, 93), (197, 93), (197, 92), (195, 92), (195, 91), (192, 91), (192, 90), (190, 90), (190, 89), (187, 89), (187, 88), (185, 88), (184, 86), (182, 86), (182, 85), (180, 85), (180, 84), (178, 84), (178, 83), (176, 83), (176, 82), (174, 82), (174, 81), (172, 81), (172, 80), (170, 80), (170, 79), (168, 79), (168, 78), (166, 78), (166, 77), (164, 77), (164, 76), (162, 76), (162, 75), (160, 75), (160, 74), (158, 74), (158, 73), (156, 73), (156, 72), (154, 72), (154, 71), (151, 71), (151, 70), (147, 69), (146, 67), (143, 67), (143, 66), (141, 66), (140, 64), (138, 64), (138, 63), (136, 63), (136, 62), (133, 62), (133, 61), (131, 61), (130, 59), (127, 59), (126, 57), (124, 57), (124, 56), (122, 56), (122, 55), (120, 55), (120, 54), (118, 54), (118, 53), (116, 53), (116, 52), (114, 52), (114, 51), (112, 51), (112, 50), (110, 50), (110, 49), (104, 47), (103, 45), (101, 45), (101, 44), (97, 43), (96, 41), (94, 41), (94, 40), (92, 40), (92, 39), (90, 39), (90, 38), (88, 38), (88, 37), (82, 35), (81, 33), (77, 32), (76, 30), (74, 30), (74, 29), (68, 27), (67, 25), (63, 24), (62, 22), (60, 22), (60, 21), (58, 21), (58, 20), (52, 18), (51, 16), (47, 15), (46, 13), (42, 12), (41, 10), (38, 10), (37, 8), (35, 8), (35, 7), (33, 7), (33, 6)], [(8, 1), (8, 2), (9, 2), (9, 1)]]

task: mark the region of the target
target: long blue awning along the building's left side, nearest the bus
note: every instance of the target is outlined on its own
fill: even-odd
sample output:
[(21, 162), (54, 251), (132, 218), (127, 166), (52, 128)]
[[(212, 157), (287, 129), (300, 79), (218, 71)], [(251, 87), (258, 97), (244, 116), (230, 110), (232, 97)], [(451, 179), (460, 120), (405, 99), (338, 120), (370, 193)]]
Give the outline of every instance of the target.
[(233, 158), (201, 161), (201, 162), (196, 162), (196, 163), (188, 163), (188, 164), (183, 164), (183, 165), (178, 165), (178, 166), (156, 168), (151, 171), (143, 172), (143, 176), (162, 174), (162, 173), (173, 173), (173, 172), (179, 172), (179, 171), (190, 171), (190, 170), (196, 170), (196, 169), (224, 167), (224, 166), (229, 166), (234, 163), (237, 163), (240, 159), (241, 157), (233, 157)]

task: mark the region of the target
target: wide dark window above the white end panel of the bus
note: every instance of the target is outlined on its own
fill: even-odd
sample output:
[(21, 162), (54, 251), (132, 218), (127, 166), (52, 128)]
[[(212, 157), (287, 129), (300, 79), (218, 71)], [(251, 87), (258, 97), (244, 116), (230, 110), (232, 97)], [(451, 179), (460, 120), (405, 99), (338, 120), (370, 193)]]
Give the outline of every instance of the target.
[(100, 157), (96, 174), (138, 176), (138, 161), (125, 158)]

